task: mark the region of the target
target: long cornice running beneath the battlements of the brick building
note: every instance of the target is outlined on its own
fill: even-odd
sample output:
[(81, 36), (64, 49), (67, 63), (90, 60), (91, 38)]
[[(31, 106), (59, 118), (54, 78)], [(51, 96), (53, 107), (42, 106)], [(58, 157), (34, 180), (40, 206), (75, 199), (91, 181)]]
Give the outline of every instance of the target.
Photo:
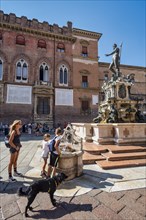
[(22, 31), (24, 33), (28, 33), (28, 34), (32, 34), (32, 35), (39, 35), (42, 37), (47, 37), (51, 40), (56, 39), (56, 40), (70, 41), (72, 43), (74, 43), (76, 41), (75, 37), (65, 36), (65, 35), (46, 32), (46, 31), (40, 31), (40, 30), (36, 30), (36, 29), (32, 29), (32, 28), (26, 28), (26, 27), (22, 27), (22, 26), (10, 24), (10, 23), (2, 23), (1, 22), (0, 28), (12, 30), (12, 31)]

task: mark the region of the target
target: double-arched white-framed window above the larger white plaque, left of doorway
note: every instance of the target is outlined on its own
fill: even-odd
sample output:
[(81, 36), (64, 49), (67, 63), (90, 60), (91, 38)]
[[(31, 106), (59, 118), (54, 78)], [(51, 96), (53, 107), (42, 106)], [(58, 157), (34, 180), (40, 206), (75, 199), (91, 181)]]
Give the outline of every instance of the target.
[(16, 63), (16, 81), (27, 81), (28, 79), (28, 64), (21, 59)]

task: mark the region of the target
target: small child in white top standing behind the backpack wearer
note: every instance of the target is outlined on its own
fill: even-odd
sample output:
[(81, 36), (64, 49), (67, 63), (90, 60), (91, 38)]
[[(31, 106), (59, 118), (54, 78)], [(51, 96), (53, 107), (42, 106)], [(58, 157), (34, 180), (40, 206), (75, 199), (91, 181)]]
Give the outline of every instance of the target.
[(48, 154), (49, 154), (48, 143), (49, 143), (49, 140), (50, 140), (50, 134), (44, 134), (44, 138), (43, 138), (43, 139), (44, 139), (44, 140), (42, 141), (43, 151), (42, 151), (41, 157), (42, 157), (43, 160), (44, 160), (44, 164), (43, 164), (43, 167), (42, 167), (41, 176), (42, 176), (42, 177), (46, 177), (45, 168), (46, 168), (47, 159), (48, 159)]

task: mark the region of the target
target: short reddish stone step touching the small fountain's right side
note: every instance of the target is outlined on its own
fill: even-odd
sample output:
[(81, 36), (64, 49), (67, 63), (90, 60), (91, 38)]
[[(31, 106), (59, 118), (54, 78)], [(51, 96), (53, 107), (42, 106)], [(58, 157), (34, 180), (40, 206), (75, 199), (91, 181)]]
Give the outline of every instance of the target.
[(94, 164), (95, 161), (106, 160), (102, 155), (93, 155), (88, 152), (83, 154), (83, 164)]

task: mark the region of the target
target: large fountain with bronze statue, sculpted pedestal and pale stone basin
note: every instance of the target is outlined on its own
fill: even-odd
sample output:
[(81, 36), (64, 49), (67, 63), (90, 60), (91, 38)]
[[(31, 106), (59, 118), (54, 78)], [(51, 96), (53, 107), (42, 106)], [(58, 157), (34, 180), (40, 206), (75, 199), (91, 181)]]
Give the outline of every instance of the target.
[(94, 123), (72, 123), (76, 134), (83, 141), (97, 144), (140, 144), (145, 143), (146, 123), (140, 106), (143, 99), (133, 97), (130, 90), (135, 82), (135, 74), (123, 75), (120, 72), (121, 49), (116, 44), (109, 69), (111, 79), (105, 75), (102, 91), (103, 101), (100, 102), (99, 112)]

